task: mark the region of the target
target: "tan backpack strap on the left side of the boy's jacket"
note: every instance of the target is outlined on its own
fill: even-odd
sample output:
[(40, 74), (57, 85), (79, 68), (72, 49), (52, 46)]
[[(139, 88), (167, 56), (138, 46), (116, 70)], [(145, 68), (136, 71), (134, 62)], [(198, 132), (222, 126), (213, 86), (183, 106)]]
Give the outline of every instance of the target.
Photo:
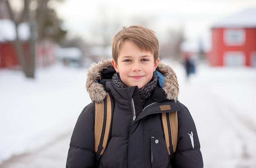
[(94, 143), (95, 159), (94, 163), (99, 164), (99, 159), (103, 155), (108, 144), (110, 128), (112, 125), (113, 101), (110, 94), (101, 103), (95, 103), (95, 122), (94, 122)]

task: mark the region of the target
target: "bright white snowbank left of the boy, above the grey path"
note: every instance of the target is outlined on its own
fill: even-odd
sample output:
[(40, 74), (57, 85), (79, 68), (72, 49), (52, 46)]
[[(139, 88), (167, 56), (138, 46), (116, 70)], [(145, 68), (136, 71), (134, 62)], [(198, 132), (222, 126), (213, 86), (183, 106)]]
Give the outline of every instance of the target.
[(36, 79), (0, 70), (0, 161), (51, 142), (73, 129), (90, 98), (86, 70), (57, 65)]

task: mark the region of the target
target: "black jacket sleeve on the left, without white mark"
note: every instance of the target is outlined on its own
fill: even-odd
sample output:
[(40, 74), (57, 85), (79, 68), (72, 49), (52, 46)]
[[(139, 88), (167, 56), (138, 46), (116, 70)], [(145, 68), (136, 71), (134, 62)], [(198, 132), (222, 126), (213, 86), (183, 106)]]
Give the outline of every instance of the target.
[(70, 141), (66, 168), (92, 168), (94, 164), (94, 106), (81, 112)]

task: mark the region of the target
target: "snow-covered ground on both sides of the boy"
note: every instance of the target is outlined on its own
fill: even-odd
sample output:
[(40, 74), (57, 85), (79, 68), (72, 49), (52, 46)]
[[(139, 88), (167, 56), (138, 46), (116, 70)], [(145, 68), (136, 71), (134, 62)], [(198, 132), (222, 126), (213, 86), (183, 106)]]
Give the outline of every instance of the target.
[[(198, 129), (204, 167), (256, 168), (256, 69), (202, 64), (186, 80), (181, 65), (171, 66), (180, 83), (179, 100)], [(0, 167), (13, 155), (25, 162), (23, 155), (38, 151), (25, 167), (42, 155), (61, 163), (54, 167), (65, 166), (72, 129), (90, 102), (85, 81), (86, 69), (61, 65), (38, 69), (35, 80), (0, 70)]]

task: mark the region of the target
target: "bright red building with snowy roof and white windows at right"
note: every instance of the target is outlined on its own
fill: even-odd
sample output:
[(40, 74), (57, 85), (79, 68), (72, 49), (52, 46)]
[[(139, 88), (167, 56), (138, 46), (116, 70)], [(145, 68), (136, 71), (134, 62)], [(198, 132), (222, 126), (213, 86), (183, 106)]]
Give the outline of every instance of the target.
[(217, 22), (211, 32), (210, 65), (256, 67), (256, 8)]

